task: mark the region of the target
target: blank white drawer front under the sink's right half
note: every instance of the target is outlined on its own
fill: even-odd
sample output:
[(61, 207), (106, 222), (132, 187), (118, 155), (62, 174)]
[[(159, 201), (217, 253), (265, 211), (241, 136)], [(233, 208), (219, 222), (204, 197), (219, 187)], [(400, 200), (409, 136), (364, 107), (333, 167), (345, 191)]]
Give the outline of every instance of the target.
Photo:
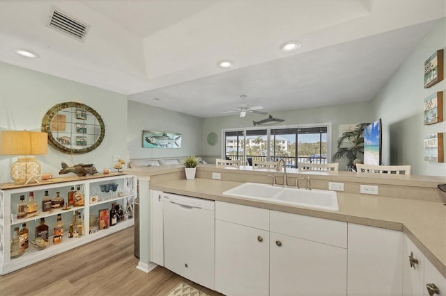
[(278, 211), (270, 211), (270, 231), (347, 247), (347, 223)]

